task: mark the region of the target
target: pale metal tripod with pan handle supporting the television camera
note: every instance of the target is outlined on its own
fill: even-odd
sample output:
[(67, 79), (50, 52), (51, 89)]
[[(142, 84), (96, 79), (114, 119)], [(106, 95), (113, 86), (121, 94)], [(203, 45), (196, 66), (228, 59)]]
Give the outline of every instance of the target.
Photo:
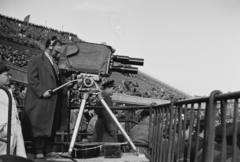
[[(79, 80), (75, 80), (75, 81), (79, 81)], [(71, 82), (73, 82), (73, 81), (71, 81)], [(67, 83), (65, 85), (67, 85)], [(62, 85), (61, 87), (56, 88), (55, 90), (53, 90), (53, 92), (58, 90), (59, 88), (62, 88), (65, 85)], [(83, 87), (83, 85), (85, 87)], [(115, 115), (113, 114), (111, 109), (109, 108), (109, 106), (104, 101), (104, 99), (103, 99), (103, 97), (101, 95), (101, 90), (100, 90), (98, 84), (95, 82), (95, 80), (93, 78), (90, 78), (90, 77), (84, 78), (83, 79), (83, 83), (81, 84), (81, 86), (79, 88), (79, 91), (83, 93), (83, 98), (82, 98), (82, 101), (81, 101), (81, 104), (80, 104), (80, 107), (79, 107), (78, 117), (77, 117), (76, 124), (75, 124), (75, 127), (74, 127), (74, 131), (73, 131), (72, 139), (71, 139), (71, 142), (70, 142), (70, 145), (69, 145), (69, 150), (68, 150), (68, 155), (67, 156), (68, 157), (72, 157), (72, 152), (73, 152), (73, 148), (74, 148), (74, 145), (75, 145), (75, 142), (76, 142), (78, 129), (79, 129), (79, 126), (80, 126), (80, 123), (81, 123), (84, 107), (86, 105), (86, 101), (87, 101), (88, 97), (90, 95), (92, 95), (92, 94), (96, 95), (98, 100), (102, 103), (104, 108), (110, 114), (110, 116), (113, 119), (114, 123), (117, 125), (118, 129), (122, 132), (123, 136), (128, 141), (128, 143), (131, 145), (131, 147), (134, 150), (134, 152), (139, 154), (138, 151), (137, 151), (136, 146), (133, 144), (133, 142), (130, 139), (130, 137), (128, 136), (128, 134), (122, 128), (121, 124), (119, 123), (119, 121), (117, 120), (117, 118), (115, 117)]]

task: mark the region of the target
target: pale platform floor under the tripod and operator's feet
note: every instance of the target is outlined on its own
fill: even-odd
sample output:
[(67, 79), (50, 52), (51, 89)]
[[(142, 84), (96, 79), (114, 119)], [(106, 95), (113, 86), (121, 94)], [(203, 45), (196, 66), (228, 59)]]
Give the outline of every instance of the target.
[[(149, 162), (145, 157), (139, 157), (133, 153), (122, 153), (121, 158), (106, 159), (103, 156), (90, 159), (74, 159), (77, 162)], [(47, 159), (47, 162), (72, 162), (71, 159)]]

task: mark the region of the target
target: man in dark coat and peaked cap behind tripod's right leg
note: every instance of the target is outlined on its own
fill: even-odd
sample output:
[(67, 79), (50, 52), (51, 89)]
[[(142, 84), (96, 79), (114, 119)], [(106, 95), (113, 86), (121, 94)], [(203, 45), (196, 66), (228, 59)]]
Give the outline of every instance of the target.
[[(112, 98), (113, 95), (114, 80), (108, 81), (102, 84), (102, 97), (109, 107), (113, 106)], [(98, 103), (100, 106), (100, 103)], [(107, 110), (96, 110), (98, 119), (95, 124), (93, 142), (117, 142), (117, 127), (112, 119), (111, 115)]]

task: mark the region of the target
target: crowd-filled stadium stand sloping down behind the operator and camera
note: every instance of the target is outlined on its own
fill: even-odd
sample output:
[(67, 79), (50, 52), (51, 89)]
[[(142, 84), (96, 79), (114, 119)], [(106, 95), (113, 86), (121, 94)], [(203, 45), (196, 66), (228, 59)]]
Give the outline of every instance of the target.
[[(60, 36), (60, 39), (63, 39), (64, 42), (69, 42), (69, 39), (67, 39), (66, 35), (73, 35), (75, 37), (73, 37), (71, 40), (80, 41), (80, 39), (74, 34), (58, 32), (56, 30), (34, 24), (26, 25), (20, 20), (9, 18), (3, 15), (0, 15), (0, 23), (0, 28), (2, 29), (0, 32), (1, 60), (14, 65), (13, 67), (21, 67), (21, 69), (26, 69), (28, 60), (32, 55), (41, 53), (41, 50), (39, 49), (42, 49), (43, 42), (47, 37), (53, 34)], [(24, 30), (24, 32), (22, 30)], [(31, 36), (29, 36), (29, 30), (31, 31)], [(47, 33), (51, 34), (44, 36), (46, 31), (48, 31)], [(38, 39), (38, 35), (41, 32), (43, 32), (43, 34), (41, 34), (42, 37), (41, 39)], [(23, 33), (25, 36), (22, 36)], [(36, 35), (34, 35), (34, 33)], [(37, 44), (39, 46), (35, 46), (36, 42), (38, 42)], [(192, 98), (192, 96), (177, 90), (176, 88), (173, 88), (170, 85), (167, 85), (166, 83), (163, 83), (141, 71), (139, 71), (138, 75), (124, 75), (113, 72), (110, 78), (114, 79), (118, 84), (116, 91), (126, 95), (163, 100), (170, 100), (173, 97), (179, 100)], [(22, 81), (26, 83), (26, 80)]]

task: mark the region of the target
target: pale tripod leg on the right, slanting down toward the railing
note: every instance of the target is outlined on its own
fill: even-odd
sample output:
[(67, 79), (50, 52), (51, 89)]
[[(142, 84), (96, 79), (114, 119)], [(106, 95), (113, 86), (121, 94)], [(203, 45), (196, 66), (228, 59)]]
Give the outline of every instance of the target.
[(133, 144), (132, 140), (130, 139), (130, 137), (128, 136), (128, 134), (125, 132), (125, 130), (123, 129), (123, 127), (121, 126), (121, 124), (119, 123), (119, 121), (117, 120), (116, 116), (113, 114), (113, 112), (111, 111), (111, 109), (109, 108), (109, 106), (106, 104), (106, 102), (104, 101), (104, 99), (102, 98), (102, 96), (100, 94), (97, 95), (98, 99), (101, 101), (101, 103), (103, 104), (103, 106), (105, 107), (105, 109), (108, 111), (108, 113), (110, 114), (110, 116), (112, 117), (112, 119), (114, 120), (115, 124), (117, 125), (117, 127), (119, 128), (119, 130), (122, 132), (123, 136), (126, 138), (126, 140), (128, 141), (128, 143), (131, 145), (132, 149), (137, 152), (137, 148), (136, 146)]

